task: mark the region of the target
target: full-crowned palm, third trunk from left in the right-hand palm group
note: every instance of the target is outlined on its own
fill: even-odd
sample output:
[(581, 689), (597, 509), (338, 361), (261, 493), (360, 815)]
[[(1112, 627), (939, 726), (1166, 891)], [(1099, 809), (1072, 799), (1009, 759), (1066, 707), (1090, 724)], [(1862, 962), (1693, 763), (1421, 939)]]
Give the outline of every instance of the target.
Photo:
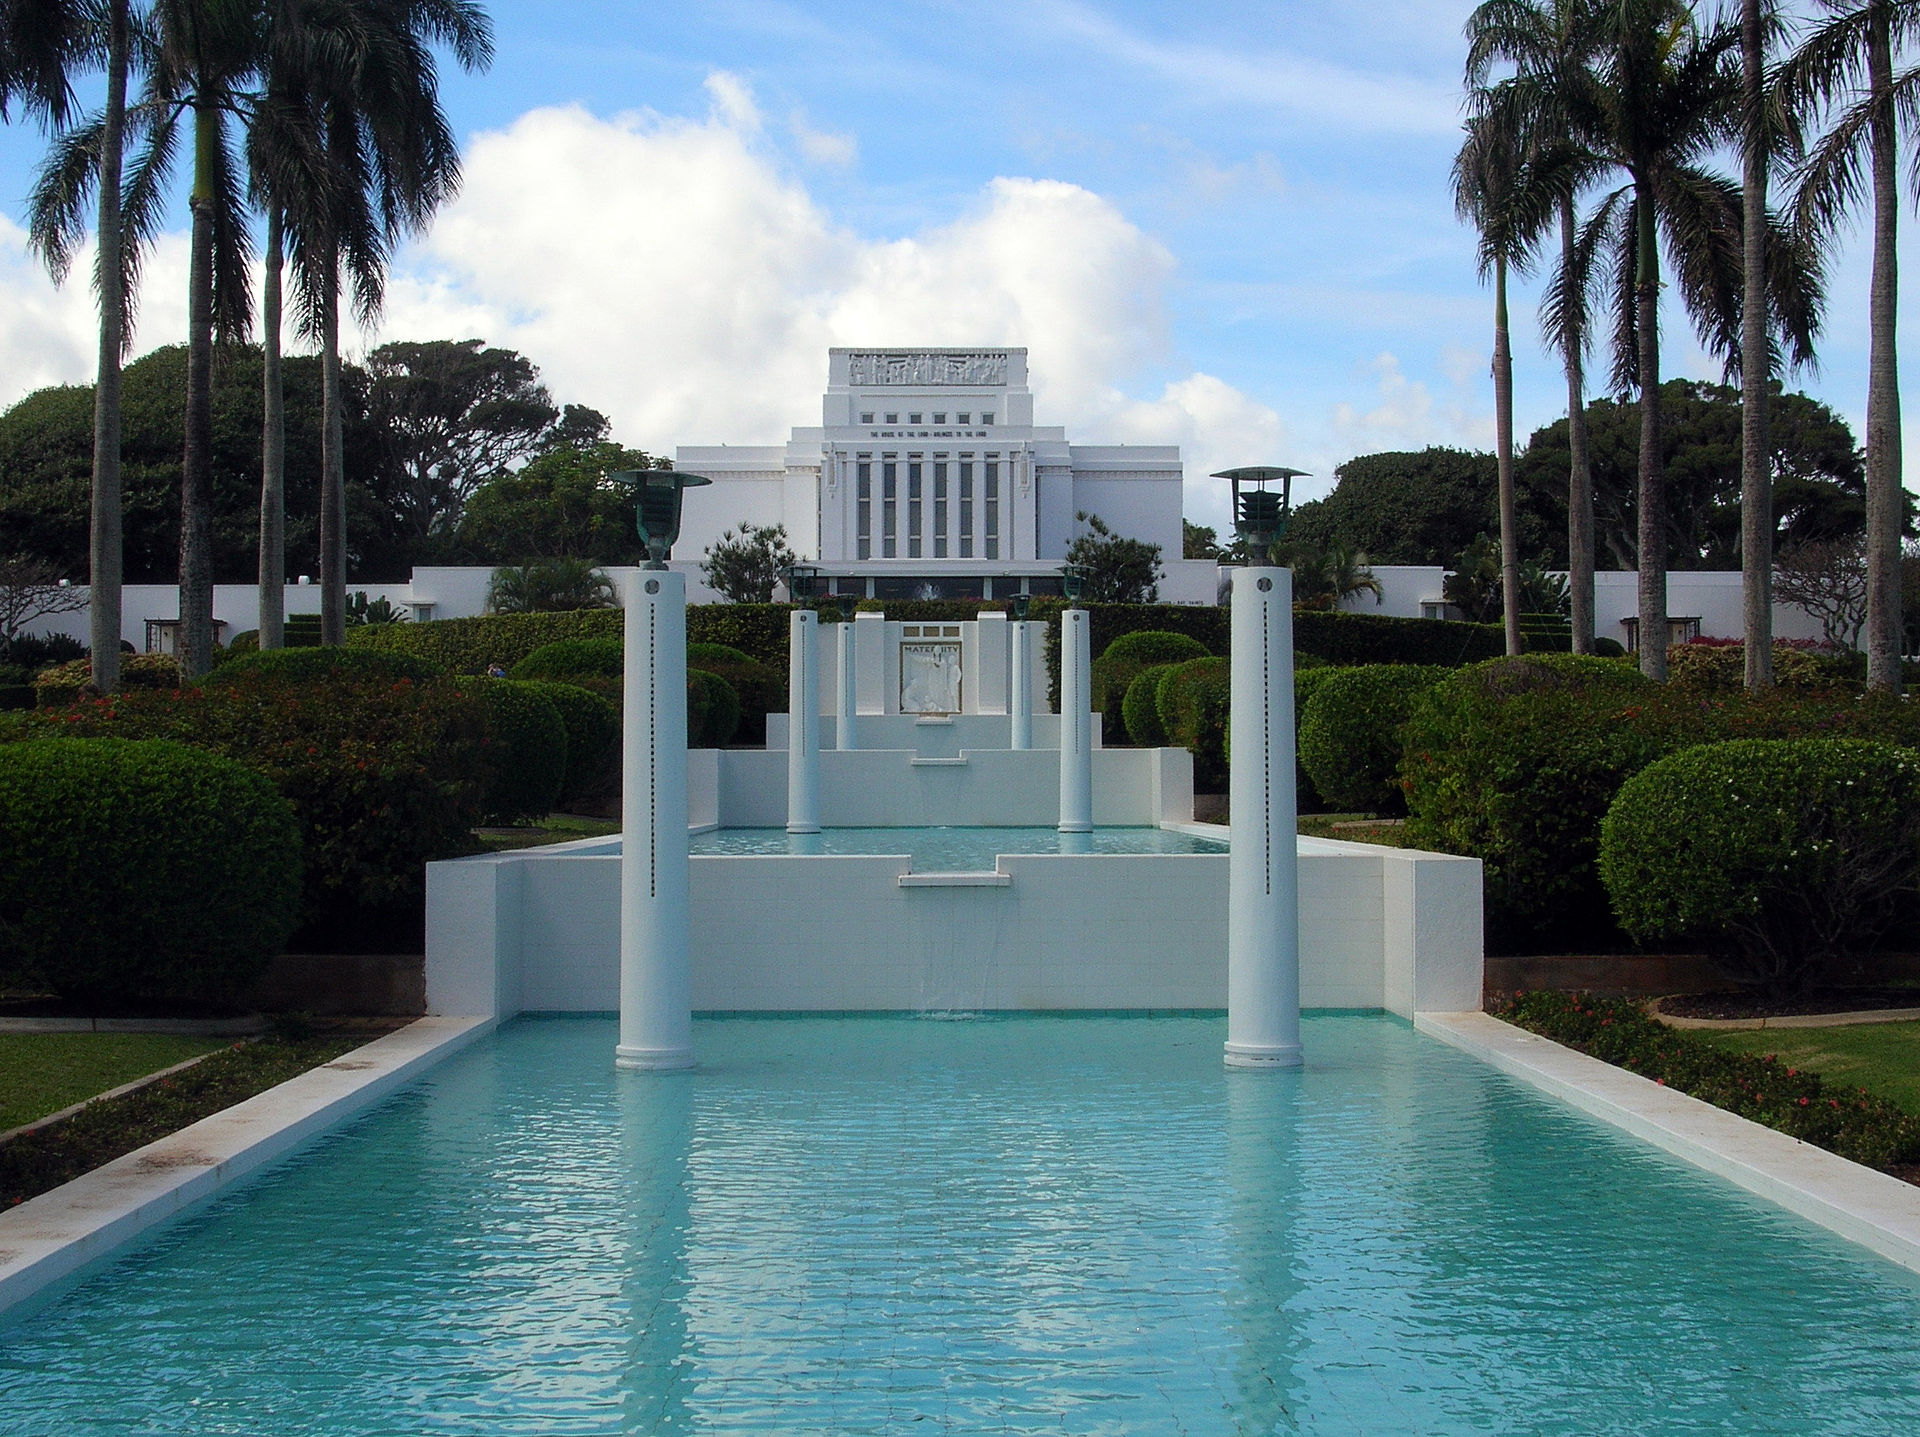
[[(1571, 96), (1576, 138), (1626, 183), (1603, 196), (1574, 250), (1569, 292), (1613, 294), (1613, 378), (1640, 394), (1640, 669), (1667, 676), (1667, 484), (1661, 465), (1661, 250), (1701, 342), (1741, 357), (1743, 200), (1705, 167), (1740, 136), (1740, 31), (1695, 23), (1682, 0), (1617, 0), (1596, 19), (1592, 73)], [(1801, 236), (1768, 225), (1764, 313), (1793, 363), (1812, 359), (1820, 267)]]

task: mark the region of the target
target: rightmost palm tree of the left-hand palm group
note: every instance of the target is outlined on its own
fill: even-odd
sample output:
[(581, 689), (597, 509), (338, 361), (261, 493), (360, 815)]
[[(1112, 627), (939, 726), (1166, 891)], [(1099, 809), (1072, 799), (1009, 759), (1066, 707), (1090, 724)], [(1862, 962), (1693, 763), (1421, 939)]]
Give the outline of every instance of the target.
[(326, 183), (282, 196), (303, 325), (321, 344), (323, 644), (346, 638), (342, 280), (371, 323), (392, 248), (424, 229), (459, 186), (459, 146), (440, 110), (432, 46), (445, 44), (465, 69), (493, 58), (492, 25), (472, 0), (342, 0), (334, 27), (305, 92)]

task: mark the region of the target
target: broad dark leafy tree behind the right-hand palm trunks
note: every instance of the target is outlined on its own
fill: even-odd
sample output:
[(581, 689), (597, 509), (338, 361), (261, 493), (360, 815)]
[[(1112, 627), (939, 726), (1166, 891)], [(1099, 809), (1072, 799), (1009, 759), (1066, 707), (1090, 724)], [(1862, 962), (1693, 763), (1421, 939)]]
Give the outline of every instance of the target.
[[(1741, 546), (1741, 405), (1728, 384), (1672, 378), (1661, 386), (1661, 471), (1667, 476), (1667, 549), (1674, 569), (1738, 569)], [(1857, 534), (1864, 523), (1860, 451), (1839, 415), (1805, 394), (1772, 386), (1774, 544)], [(1596, 532), (1611, 569), (1638, 555), (1640, 413), (1632, 403), (1586, 407)], [(1567, 469), (1567, 421), (1536, 428), (1519, 459), (1524, 501), (1557, 532), (1557, 476)], [(1555, 565), (1563, 551), (1544, 553)]]

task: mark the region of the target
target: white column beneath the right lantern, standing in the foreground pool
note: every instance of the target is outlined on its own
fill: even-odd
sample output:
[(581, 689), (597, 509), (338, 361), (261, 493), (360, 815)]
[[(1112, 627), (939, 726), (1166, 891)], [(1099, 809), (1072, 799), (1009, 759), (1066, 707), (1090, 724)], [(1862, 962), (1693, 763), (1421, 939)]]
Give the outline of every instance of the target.
[(1233, 571), (1227, 1064), (1300, 1064), (1294, 576)]

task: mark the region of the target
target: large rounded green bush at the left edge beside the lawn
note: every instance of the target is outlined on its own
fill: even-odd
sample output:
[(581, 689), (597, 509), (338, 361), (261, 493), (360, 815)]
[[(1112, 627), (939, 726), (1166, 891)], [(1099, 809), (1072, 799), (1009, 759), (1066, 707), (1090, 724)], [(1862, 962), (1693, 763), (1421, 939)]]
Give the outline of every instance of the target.
[(83, 1001), (238, 1003), (300, 916), (300, 828), (182, 743), (0, 745), (6, 962)]

